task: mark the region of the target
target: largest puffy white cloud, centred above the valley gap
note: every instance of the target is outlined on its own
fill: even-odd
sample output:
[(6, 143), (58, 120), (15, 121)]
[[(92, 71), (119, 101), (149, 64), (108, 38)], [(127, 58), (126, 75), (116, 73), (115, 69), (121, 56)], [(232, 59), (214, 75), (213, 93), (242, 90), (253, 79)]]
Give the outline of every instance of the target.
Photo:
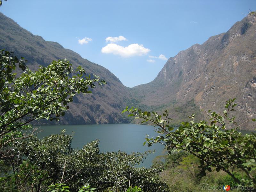
[(150, 52), (150, 49), (145, 48), (142, 44), (130, 44), (127, 47), (123, 47), (114, 43), (107, 44), (101, 49), (102, 53), (112, 53), (114, 55), (120, 55), (121, 57), (142, 56)]

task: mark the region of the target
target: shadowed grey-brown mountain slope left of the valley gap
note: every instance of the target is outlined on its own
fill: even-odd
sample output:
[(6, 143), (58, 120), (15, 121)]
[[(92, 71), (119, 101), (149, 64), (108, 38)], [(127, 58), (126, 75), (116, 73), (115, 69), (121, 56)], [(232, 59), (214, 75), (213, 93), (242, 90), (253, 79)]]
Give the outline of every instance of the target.
[[(52, 60), (67, 59), (73, 67), (81, 65), (87, 73), (100, 76), (107, 81), (103, 87), (97, 86), (93, 94), (78, 95), (61, 124), (105, 124), (127, 122), (121, 111), (124, 100), (129, 97), (127, 88), (108, 69), (83, 59), (79, 54), (64, 49), (60, 44), (45, 41), (21, 28), (12, 19), (0, 13), (0, 49), (13, 51), (25, 57), (28, 67), (36, 70), (39, 65), (47, 66)], [(41, 124), (40, 122), (39, 124)], [(45, 122), (44, 123), (49, 123)], [(54, 122), (52, 122), (54, 123)]]

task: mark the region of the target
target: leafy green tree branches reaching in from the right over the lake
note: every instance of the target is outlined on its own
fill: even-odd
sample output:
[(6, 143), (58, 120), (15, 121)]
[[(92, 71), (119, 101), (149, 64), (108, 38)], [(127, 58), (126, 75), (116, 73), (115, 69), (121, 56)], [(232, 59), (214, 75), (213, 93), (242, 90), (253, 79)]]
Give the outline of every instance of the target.
[[(199, 178), (205, 176), (206, 170), (211, 172), (215, 167), (216, 171), (227, 172), (241, 185), (256, 187), (256, 134), (242, 135), (238, 131), (241, 125), (236, 124), (235, 117), (228, 117), (229, 112), (235, 110), (234, 101), (235, 99), (226, 102), (223, 115), (209, 110), (210, 123), (194, 122), (193, 114), (191, 121), (181, 122), (176, 131), (170, 126), (168, 110), (164, 111), (164, 118), (156, 112), (143, 112), (138, 108), (126, 107), (123, 112), (128, 111), (129, 116), (143, 118), (142, 123), (149, 121), (157, 127), (159, 135), (156, 138), (146, 138), (148, 146), (158, 142), (165, 145), (170, 154), (184, 150), (198, 157), (201, 168)], [(231, 129), (227, 129), (228, 124)], [(236, 172), (243, 173), (244, 178), (236, 177)]]

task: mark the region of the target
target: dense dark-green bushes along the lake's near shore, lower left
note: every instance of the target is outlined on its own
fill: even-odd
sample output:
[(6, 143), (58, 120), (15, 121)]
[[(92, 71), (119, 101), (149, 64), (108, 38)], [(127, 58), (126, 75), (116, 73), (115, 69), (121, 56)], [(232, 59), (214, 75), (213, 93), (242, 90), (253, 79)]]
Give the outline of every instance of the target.
[(168, 191), (158, 177), (162, 166), (136, 167), (147, 153), (100, 153), (97, 140), (82, 149), (73, 149), (71, 139), (62, 132), (42, 140), (32, 136), (13, 141), (15, 156), (0, 162), (4, 168), (0, 190), (42, 191), (50, 186), (49, 189), (57, 191), (81, 191), (85, 189), (81, 186), (89, 183), (97, 188), (95, 191), (122, 191), (129, 186), (140, 186), (144, 191)]

